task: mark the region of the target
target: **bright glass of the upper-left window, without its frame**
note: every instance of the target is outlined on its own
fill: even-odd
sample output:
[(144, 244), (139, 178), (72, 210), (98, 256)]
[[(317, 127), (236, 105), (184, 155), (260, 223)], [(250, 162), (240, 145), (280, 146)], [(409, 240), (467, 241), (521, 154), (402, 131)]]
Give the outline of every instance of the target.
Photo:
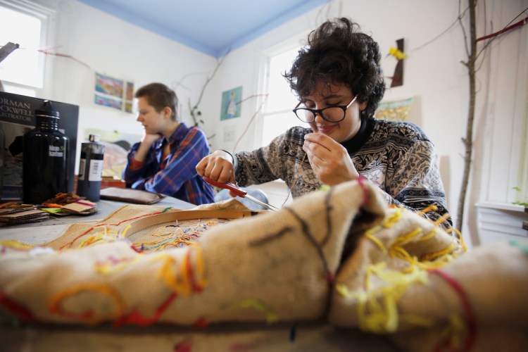
[(40, 32), (39, 18), (0, 6), (0, 45), (8, 42), (19, 44), (0, 63), (0, 77), (3, 81), (42, 87), (42, 73), (39, 65)]

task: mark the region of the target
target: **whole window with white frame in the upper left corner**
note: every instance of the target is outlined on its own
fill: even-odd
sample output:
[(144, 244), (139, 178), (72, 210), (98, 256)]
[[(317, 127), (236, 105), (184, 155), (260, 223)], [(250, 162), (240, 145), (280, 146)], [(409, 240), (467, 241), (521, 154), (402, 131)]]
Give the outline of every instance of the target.
[(0, 79), (6, 92), (35, 96), (44, 86), (44, 54), (49, 11), (27, 1), (0, 0), (0, 45), (18, 44), (0, 62)]

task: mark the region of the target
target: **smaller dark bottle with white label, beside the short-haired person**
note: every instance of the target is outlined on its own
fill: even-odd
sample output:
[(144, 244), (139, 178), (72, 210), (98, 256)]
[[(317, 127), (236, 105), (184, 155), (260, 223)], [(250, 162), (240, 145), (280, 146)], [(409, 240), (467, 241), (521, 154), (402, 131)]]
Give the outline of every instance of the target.
[(89, 142), (81, 144), (77, 194), (89, 201), (101, 198), (101, 180), (103, 177), (104, 145), (99, 143), (97, 134), (89, 135)]

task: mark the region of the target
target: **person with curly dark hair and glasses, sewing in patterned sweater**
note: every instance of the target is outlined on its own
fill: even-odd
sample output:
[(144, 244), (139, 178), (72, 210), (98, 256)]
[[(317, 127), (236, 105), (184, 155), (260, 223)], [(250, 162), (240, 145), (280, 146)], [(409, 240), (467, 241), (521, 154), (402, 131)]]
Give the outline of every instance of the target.
[(377, 42), (359, 25), (327, 20), (284, 74), (299, 99), (294, 113), (310, 128), (292, 127), (251, 152), (215, 151), (196, 170), (241, 186), (280, 178), (294, 197), (362, 175), (389, 204), (436, 208), (427, 217), (440, 218), (446, 195), (432, 142), (410, 122), (374, 118), (385, 91), (380, 59)]

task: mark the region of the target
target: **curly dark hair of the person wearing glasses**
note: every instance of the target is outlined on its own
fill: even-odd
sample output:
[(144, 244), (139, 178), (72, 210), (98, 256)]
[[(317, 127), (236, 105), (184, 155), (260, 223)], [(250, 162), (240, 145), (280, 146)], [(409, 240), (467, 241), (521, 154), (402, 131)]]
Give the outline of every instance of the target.
[(308, 43), (284, 77), (301, 98), (313, 93), (317, 82), (346, 84), (358, 101), (367, 101), (365, 115), (374, 114), (385, 92), (379, 45), (348, 18), (327, 20), (308, 35)]

